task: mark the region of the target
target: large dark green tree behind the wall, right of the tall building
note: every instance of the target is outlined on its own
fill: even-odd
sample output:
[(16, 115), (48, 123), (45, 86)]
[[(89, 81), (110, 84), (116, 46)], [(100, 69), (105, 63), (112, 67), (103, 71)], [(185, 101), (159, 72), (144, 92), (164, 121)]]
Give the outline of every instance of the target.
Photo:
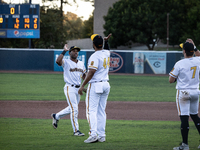
[[(159, 40), (166, 42), (169, 13), (170, 44), (176, 45), (188, 27), (186, 1), (188, 0), (120, 0), (113, 8), (109, 8), (104, 17), (104, 34), (113, 34), (110, 39), (111, 47), (129, 45), (132, 42), (145, 44), (149, 50), (153, 50)], [(192, 1), (193, 4), (187, 5), (189, 12), (198, 0)]]

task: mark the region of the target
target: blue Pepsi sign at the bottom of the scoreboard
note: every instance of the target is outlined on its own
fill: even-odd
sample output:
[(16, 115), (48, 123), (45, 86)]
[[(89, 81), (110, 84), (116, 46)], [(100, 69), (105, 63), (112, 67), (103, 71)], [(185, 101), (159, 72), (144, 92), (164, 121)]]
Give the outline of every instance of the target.
[(7, 38), (40, 38), (40, 30), (7, 30)]

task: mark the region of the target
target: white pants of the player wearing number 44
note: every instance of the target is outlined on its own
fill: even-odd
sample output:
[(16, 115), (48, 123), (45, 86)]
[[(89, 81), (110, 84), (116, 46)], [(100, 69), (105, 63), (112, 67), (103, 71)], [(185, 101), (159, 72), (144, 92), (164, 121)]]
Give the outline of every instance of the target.
[(90, 83), (86, 95), (86, 117), (90, 126), (90, 135), (105, 137), (106, 104), (110, 92), (109, 82)]

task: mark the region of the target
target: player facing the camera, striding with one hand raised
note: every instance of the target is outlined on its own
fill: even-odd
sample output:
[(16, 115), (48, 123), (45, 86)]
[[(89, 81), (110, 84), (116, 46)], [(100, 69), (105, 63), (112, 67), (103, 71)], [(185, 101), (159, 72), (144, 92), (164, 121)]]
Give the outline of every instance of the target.
[[(63, 59), (65, 53), (69, 50), (70, 59)], [(58, 120), (66, 115), (70, 114), (71, 124), (75, 136), (84, 136), (84, 133), (79, 131), (78, 124), (78, 104), (80, 101), (80, 95), (78, 89), (81, 85), (81, 77), (85, 79), (86, 69), (84, 63), (77, 59), (80, 48), (72, 46), (68, 49), (67, 44), (64, 46), (64, 51), (58, 56), (56, 63), (63, 67), (63, 76), (65, 81), (64, 93), (68, 102), (68, 107), (61, 110), (56, 114), (52, 114), (53, 127), (57, 128)]]

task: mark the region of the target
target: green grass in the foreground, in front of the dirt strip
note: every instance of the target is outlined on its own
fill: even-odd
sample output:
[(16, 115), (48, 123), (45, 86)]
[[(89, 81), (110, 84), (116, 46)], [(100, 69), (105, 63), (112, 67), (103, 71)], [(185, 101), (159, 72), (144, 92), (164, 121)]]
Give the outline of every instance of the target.
[[(79, 119), (84, 137), (74, 137), (70, 120), (53, 129), (51, 119), (0, 118), (1, 150), (170, 150), (181, 142), (178, 121), (107, 120), (106, 142), (85, 144), (89, 126)], [(189, 145), (196, 150), (199, 135), (190, 122)]]

